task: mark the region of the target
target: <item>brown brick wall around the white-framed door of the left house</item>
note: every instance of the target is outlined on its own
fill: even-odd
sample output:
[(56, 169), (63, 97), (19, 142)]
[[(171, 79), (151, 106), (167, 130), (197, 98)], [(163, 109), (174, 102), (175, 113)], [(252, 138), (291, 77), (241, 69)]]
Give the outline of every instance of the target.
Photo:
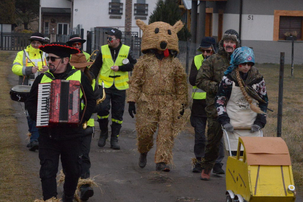
[[(62, 15), (62, 14), (42, 14), (42, 25), (41, 31), (45, 33), (45, 22), (48, 22), (48, 31), (49, 34), (55, 33), (57, 34), (58, 23), (68, 23), (68, 30), (71, 28), (71, 16), (69, 15)], [(54, 29), (54, 31), (53, 31)]]

